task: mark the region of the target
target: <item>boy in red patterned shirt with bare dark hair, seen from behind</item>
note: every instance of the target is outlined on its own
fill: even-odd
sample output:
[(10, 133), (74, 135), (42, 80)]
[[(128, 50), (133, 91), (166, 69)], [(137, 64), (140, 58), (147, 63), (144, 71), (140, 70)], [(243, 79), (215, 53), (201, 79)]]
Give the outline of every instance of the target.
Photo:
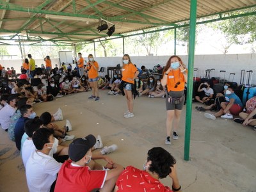
[[(172, 179), (172, 190), (159, 181), (168, 175)], [(115, 192), (172, 192), (180, 191), (180, 188), (176, 160), (163, 148), (154, 147), (148, 150), (147, 163), (143, 164), (143, 170), (127, 166), (116, 181)]]

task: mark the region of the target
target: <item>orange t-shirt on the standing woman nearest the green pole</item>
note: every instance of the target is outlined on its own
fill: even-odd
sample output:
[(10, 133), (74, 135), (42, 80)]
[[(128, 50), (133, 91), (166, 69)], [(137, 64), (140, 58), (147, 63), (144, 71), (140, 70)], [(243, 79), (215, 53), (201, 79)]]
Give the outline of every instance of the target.
[[(164, 75), (164, 76), (166, 76), (166, 75)], [(177, 88), (175, 88), (175, 84), (178, 82), (180, 82), (180, 84), (178, 84)], [(180, 72), (180, 69), (179, 70), (171, 70), (167, 76), (168, 92), (170, 92), (170, 91), (179, 92), (179, 91), (183, 91), (184, 88), (185, 88), (185, 77), (182, 74), (182, 72)]]

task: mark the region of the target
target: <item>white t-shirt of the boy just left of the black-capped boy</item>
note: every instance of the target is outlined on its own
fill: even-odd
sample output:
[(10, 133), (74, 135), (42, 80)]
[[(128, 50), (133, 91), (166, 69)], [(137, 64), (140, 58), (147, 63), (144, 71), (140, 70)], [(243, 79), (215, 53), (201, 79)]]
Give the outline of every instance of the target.
[(57, 178), (61, 163), (42, 152), (33, 151), (26, 164), (26, 178), (29, 191), (48, 192)]

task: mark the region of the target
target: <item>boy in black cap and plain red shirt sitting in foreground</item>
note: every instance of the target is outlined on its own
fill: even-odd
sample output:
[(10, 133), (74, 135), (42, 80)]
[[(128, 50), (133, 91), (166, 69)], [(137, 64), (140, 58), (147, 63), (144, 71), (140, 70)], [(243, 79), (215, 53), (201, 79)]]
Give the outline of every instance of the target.
[(72, 161), (66, 161), (61, 166), (56, 192), (92, 191), (99, 188), (100, 191), (113, 191), (116, 179), (124, 168), (112, 161), (108, 161), (105, 167), (91, 161), (95, 143), (96, 138), (90, 134), (85, 138), (77, 138), (69, 145), (68, 156)]

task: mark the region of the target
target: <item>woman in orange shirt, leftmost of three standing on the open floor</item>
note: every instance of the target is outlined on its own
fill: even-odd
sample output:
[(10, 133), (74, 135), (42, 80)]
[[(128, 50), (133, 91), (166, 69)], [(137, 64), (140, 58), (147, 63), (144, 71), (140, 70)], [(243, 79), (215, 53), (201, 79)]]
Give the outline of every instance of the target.
[(88, 97), (88, 99), (94, 99), (99, 100), (99, 89), (98, 89), (98, 70), (99, 70), (99, 64), (97, 61), (94, 61), (93, 55), (89, 54), (88, 56), (88, 63), (86, 63), (86, 70), (88, 70), (88, 77), (89, 77), (89, 83), (90, 87), (92, 88), (92, 95)]

